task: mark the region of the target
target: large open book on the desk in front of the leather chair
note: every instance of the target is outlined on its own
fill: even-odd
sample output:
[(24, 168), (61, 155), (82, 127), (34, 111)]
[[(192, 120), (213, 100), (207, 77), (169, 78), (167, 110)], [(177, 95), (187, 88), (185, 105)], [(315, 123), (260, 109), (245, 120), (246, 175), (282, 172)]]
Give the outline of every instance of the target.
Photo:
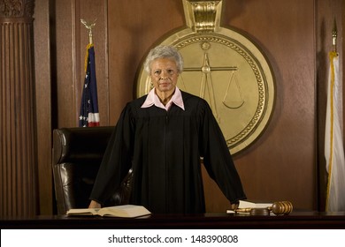
[(108, 217), (137, 218), (151, 214), (144, 206), (121, 205), (102, 208), (72, 208), (67, 215), (99, 215)]

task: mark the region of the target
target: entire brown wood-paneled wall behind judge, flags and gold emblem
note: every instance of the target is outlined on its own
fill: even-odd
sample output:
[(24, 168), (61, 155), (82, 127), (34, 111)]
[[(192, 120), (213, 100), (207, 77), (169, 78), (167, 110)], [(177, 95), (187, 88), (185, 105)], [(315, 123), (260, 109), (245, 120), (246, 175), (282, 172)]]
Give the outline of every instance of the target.
[[(37, 109), (42, 107), (37, 123), (45, 126), (38, 138), (42, 155), (39, 190), (41, 212), (49, 213), (51, 129), (78, 124), (88, 43), (88, 32), (80, 18), (96, 19), (101, 125), (114, 125), (126, 102), (134, 98), (136, 72), (150, 46), (184, 26), (185, 20), (181, 0), (36, 2), (42, 5), (36, 4), (35, 64), (43, 73), (36, 70)], [(322, 177), (318, 172), (322, 166), (319, 120), (325, 117), (325, 109), (320, 106), (326, 99), (326, 52), (334, 16), (342, 37), (341, 0), (224, 2), (222, 25), (233, 26), (255, 41), (276, 77), (277, 98), (271, 122), (254, 145), (234, 156), (247, 196), (290, 200), (297, 208), (317, 209), (322, 194), (318, 192), (318, 179)], [(49, 54), (40, 53), (40, 48)], [(44, 75), (46, 72), (49, 75)], [(47, 137), (50, 140), (46, 143)], [(207, 175), (204, 179), (207, 210), (224, 211), (226, 199)], [(47, 184), (48, 189), (43, 189)]]

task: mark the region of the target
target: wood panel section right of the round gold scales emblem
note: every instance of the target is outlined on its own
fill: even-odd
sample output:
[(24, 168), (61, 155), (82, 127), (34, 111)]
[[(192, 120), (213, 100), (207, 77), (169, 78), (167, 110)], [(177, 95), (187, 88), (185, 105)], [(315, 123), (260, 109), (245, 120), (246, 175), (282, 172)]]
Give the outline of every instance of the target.
[(314, 2), (249, 1), (229, 17), (264, 49), (276, 77), (272, 121), (236, 161), (248, 197), (308, 209), (316, 207)]

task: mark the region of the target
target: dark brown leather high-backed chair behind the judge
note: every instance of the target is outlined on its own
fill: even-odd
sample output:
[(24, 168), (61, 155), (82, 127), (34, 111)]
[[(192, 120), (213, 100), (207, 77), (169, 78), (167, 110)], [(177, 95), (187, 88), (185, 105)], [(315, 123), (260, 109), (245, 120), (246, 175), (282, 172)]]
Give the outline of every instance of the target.
[[(114, 127), (62, 128), (53, 131), (52, 169), (58, 214), (85, 208)], [(132, 170), (104, 206), (128, 204)]]

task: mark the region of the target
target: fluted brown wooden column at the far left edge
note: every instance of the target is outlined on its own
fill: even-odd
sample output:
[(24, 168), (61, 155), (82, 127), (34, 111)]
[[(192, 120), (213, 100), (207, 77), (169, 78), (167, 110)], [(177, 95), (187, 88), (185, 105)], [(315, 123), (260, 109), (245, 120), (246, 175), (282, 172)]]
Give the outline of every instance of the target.
[(37, 212), (34, 5), (0, 1), (0, 215)]

